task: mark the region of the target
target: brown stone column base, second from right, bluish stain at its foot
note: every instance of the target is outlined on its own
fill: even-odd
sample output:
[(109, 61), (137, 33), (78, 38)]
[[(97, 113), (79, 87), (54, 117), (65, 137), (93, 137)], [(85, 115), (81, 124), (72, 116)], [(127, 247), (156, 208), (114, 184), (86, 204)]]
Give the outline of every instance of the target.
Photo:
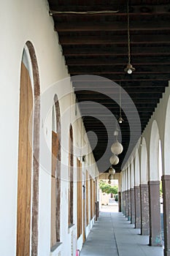
[(159, 181), (148, 181), (150, 205), (150, 246), (162, 246)]

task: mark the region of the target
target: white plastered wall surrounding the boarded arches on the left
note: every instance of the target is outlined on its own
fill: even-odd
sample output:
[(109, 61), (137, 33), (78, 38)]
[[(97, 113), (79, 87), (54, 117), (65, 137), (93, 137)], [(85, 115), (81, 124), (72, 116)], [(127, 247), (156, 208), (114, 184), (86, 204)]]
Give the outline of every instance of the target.
[[(19, 127), (19, 93), (20, 93), (20, 63), (24, 45), (30, 41), (34, 45), (39, 67), (41, 99), (40, 118), (40, 168), (39, 168), (39, 255), (50, 255), (50, 170), (51, 170), (51, 111), (54, 94), (58, 95), (61, 108), (61, 162), (63, 179), (61, 182), (61, 241), (63, 244), (53, 253), (61, 250), (61, 256), (71, 255), (71, 239), (76, 236), (76, 225), (73, 234), (67, 227), (68, 219), (68, 182), (64, 181), (68, 173), (69, 124), (74, 121), (69, 110), (70, 99), (74, 102), (74, 94), (70, 98), (69, 89), (72, 85), (69, 79), (51, 87), (56, 81), (69, 78), (65, 60), (58, 45), (58, 35), (53, 29), (53, 18), (49, 15), (48, 4), (45, 0), (4, 1), (0, 10), (1, 22), (1, 126), (0, 126), (0, 255), (15, 255), (17, 227), (17, 184), (18, 184), (18, 127)], [(47, 90), (48, 89), (48, 90)], [(66, 97), (62, 97), (66, 94)], [(45, 95), (48, 98), (43, 98)], [(74, 140), (79, 146), (80, 124), (74, 125)], [(49, 148), (48, 148), (49, 147)], [(90, 149), (90, 147), (89, 147)], [(96, 175), (93, 156), (87, 157), (90, 175)], [(76, 167), (74, 157), (74, 167)], [(97, 171), (98, 172), (98, 171)], [(74, 186), (74, 222), (76, 218), (76, 194)], [(3, 206), (3, 207), (2, 207)], [(74, 244), (74, 251), (77, 244)]]

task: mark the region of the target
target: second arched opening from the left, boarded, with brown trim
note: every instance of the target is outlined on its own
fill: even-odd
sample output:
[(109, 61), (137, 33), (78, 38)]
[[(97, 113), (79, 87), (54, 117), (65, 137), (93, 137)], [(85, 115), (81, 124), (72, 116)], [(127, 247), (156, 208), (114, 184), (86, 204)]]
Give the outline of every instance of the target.
[(51, 251), (61, 241), (61, 116), (55, 94), (52, 114)]

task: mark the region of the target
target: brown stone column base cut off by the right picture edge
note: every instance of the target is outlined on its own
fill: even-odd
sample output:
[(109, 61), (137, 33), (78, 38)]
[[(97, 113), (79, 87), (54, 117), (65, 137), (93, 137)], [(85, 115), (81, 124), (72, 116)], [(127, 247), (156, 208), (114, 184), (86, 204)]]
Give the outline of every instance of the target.
[(162, 176), (164, 256), (170, 256), (170, 175)]

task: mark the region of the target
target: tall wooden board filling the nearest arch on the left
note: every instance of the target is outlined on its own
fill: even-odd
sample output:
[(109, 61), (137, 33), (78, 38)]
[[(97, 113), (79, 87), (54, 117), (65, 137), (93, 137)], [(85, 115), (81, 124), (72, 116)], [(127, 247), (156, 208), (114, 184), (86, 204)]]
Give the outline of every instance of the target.
[(28, 69), (21, 64), (18, 145), (17, 256), (30, 255), (33, 96)]

